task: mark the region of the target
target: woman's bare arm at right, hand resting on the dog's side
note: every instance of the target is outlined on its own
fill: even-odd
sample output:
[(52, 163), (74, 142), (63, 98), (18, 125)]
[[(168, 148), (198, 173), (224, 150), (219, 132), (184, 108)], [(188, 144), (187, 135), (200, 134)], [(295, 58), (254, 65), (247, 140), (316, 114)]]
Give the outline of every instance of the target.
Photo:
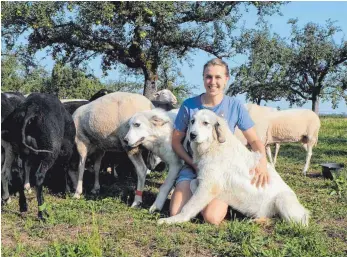
[[(258, 151), (262, 155), (259, 164), (255, 168), (255, 175), (254, 175), (251, 183), (252, 184), (255, 183), (257, 187), (259, 187), (260, 185), (262, 187), (264, 187), (265, 184), (269, 183), (269, 179), (270, 179), (269, 173), (267, 171), (267, 160), (266, 160), (265, 146), (258, 138), (254, 127), (243, 131), (243, 135), (245, 136), (245, 138), (247, 139), (247, 142), (252, 147), (252, 150)], [(254, 171), (252, 170), (251, 174), (253, 174), (253, 172)]]

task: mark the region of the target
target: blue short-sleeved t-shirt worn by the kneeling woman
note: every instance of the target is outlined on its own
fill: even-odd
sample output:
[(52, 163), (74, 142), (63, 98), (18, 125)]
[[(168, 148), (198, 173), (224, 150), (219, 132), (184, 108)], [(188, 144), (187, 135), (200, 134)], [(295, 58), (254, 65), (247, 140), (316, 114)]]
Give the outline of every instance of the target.
[(242, 131), (254, 126), (254, 122), (249, 116), (246, 108), (235, 97), (224, 96), (220, 104), (214, 107), (206, 107), (202, 105), (201, 95), (198, 95), (188, 98), (183, 102), (176, 116), (174, 129), (186, 133), (189, 120), (198, 110), (201, 109), (211, 110), (224, 118), (228, 122), (229, 128), (233, 133), (235, 132), (236, 125)]

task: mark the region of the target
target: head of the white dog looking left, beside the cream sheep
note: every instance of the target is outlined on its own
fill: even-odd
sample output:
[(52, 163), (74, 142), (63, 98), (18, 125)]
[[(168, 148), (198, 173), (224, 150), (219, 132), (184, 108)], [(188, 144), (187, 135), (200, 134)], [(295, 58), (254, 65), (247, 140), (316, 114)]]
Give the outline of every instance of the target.
[(159, 109), (136, 113), (128, 122), (129, 130), (124, 137), (124, 142), (130, 147), (137, 147), (150, 140), (158, 133), (159, 127), (170, 121), (165, 112)]

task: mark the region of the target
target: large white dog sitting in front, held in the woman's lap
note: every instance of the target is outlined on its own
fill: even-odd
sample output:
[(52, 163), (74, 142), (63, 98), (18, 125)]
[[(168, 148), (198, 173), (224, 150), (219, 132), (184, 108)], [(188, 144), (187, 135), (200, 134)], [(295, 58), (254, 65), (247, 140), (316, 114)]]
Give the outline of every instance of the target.
[(218, 198), (249, 217), (279, 214), (286, 221), (308, 225), (308, 211), (271, 165), (267, 166), (270, 183), (265, 188), (251, 184), (249, 171), (258, 164), (261, 155), (242, 145), (224, 119), (209, 110), (200, 110), (190, 121), (188, 136), (199, 170), (198, 185), (182, 211), (159, 219), (159, 224), (189, 221)]

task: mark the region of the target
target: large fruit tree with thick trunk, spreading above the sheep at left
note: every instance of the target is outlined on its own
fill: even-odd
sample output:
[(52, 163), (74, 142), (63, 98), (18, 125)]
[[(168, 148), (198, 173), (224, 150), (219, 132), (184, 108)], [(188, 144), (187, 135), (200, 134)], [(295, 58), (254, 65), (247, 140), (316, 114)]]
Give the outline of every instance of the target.
[(232, 36), (239, 6), (256, 6), (259, 15), (278, 11), (280, 2), (3, 2), (2, 35), (14, 47), (28, 33), (28, 53), (49, 49), (75, 66), (102, 56), (106, 72), (117, 63), (141, 70), (144, 95), (157, 90), (158, 68), (168, 57), (194, 49), (217, 57), (235, 54)]

